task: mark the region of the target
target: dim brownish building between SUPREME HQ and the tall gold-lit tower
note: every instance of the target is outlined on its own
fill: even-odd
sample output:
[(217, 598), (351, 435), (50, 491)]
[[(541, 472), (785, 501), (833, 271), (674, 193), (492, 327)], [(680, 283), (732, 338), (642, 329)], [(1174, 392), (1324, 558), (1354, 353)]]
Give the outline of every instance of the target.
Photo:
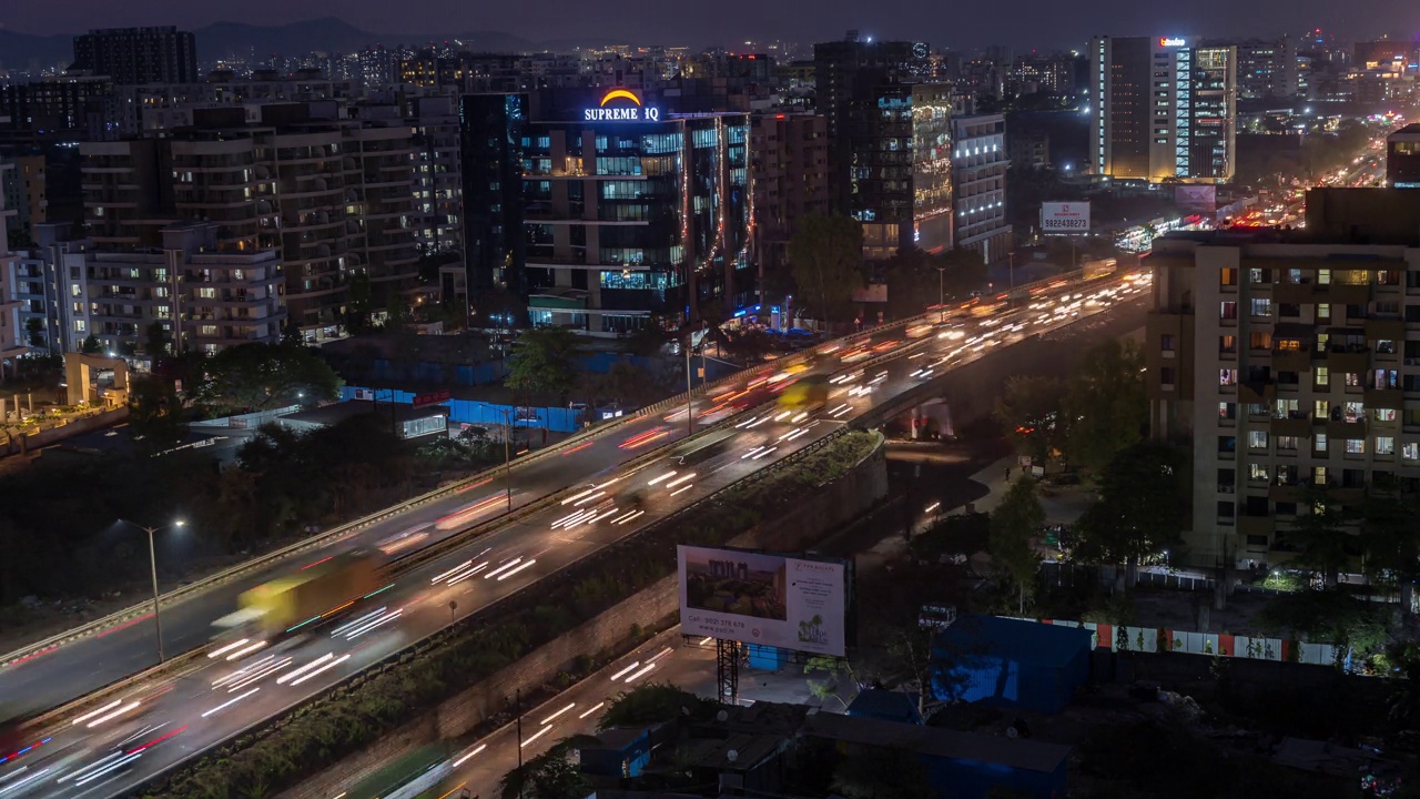
[(757, 114), (750, 141), (755, 260), (763, 273), (772, 273), (788, 267), (798, 220), (832, 208), (828, 119), (822, 114)]

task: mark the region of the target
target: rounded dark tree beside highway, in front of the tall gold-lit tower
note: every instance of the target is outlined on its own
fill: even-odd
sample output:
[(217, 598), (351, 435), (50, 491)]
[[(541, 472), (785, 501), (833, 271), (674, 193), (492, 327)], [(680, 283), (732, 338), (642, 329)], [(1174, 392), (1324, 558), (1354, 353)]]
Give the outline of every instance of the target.
[(863, 227), (848, 216), (804, 215), (790, 239), (788, 257), (799, 306), (828, 324), (863, 286)]

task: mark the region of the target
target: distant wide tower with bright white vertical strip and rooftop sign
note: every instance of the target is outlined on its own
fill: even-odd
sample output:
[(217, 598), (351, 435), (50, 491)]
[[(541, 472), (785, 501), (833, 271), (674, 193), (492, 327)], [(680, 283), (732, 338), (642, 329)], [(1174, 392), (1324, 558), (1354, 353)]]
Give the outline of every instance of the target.
[(1179, 37), (1089, 44), (1091, 171), (1224, 183), (1237, 168), (1237, 50)]

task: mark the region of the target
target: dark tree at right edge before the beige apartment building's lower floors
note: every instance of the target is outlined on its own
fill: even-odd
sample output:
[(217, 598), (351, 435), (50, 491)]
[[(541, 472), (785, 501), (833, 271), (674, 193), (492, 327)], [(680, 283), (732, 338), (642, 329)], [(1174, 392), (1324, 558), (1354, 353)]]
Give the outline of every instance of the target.
[(1394, 476), (1376, 475), (1360, 516), (1360, 549), (1366, 553), (1366, 577), (1393, 586), (1400, 594), (1400, 611), (1410, 614), (1414, 583), (1420, 579), (1420, 527), (1414, 498), (1400, 490)]

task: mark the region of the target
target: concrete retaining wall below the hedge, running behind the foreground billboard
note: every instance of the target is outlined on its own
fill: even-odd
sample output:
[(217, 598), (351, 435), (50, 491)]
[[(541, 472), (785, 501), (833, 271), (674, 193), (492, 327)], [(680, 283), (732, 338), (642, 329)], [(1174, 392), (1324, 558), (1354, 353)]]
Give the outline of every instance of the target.
[[(736, 536), (730, 546), (781, 552), (808, 549), (826, 532), (856, 519), (888, 495), (886, 463), (885, 448), (879, 446), (812, 499), (780, 519)], [(569, 671), (579, 655), (606, 657), (625, 651), (633, 645), (633, 626), (649, 630), (672, 621), (679, 603), (676, 577), (657, 580), (577, 630), (449, 698), (435, 712), (392, 731), (378, 746), (345, 758), (274, 799), (328, 799), (415, 749), (466, 735), (490, 717), (506, 712), (515, 691), (531, 694), (552, 682), (558, 672)]]

